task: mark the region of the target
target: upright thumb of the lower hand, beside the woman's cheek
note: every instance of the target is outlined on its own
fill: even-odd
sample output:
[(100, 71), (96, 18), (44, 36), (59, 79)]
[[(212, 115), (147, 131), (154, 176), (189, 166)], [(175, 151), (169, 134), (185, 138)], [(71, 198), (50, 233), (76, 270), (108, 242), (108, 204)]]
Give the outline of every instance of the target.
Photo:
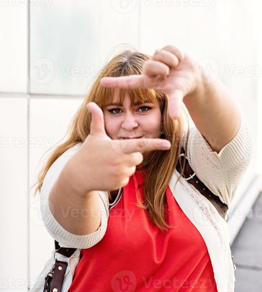
[(102, 109), (95, 103), (89, 102), (86, 108), (91, 112), (90, 135), (107, 136), (105, 130), (104, 114)]

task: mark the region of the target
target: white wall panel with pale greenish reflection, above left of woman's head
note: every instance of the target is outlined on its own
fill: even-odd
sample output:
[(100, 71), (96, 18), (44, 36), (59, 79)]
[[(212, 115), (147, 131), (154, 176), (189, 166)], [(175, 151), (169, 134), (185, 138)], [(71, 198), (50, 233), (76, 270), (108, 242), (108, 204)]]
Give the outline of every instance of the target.
[(83, 94), (99, 66), (99, 1), (30, 7), (30, 91)]

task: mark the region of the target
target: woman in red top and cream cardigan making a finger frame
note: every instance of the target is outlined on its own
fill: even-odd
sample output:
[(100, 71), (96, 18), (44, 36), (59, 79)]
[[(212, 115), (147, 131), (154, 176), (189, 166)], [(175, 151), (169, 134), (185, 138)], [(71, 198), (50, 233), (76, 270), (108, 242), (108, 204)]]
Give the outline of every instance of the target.
[(227, 223), (184, 178), (180, 153), (229, 206), (253, 137), (227, 88), (194, 65), (174, 46), (115, 56), (40, 173), (46, 229), (77, 248), (62, 291), (234, 291)]

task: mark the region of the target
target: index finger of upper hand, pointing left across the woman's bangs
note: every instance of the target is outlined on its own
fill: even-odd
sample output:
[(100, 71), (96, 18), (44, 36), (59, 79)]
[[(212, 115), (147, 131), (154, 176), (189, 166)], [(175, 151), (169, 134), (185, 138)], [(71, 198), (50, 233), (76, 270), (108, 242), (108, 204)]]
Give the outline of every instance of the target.
[(146, 88), (144, 82), (144, 75), (129, 75), (119, 77), (103, 77), (100, 84), (106, 87), (117, 88)]

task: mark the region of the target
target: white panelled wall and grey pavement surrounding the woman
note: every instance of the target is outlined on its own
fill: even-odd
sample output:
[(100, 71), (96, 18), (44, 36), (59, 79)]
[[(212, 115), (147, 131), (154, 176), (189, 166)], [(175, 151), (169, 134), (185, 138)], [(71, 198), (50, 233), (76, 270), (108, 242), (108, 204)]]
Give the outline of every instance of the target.
[(255, 157), (227, 222), (235, 291), (261, 291), (261, 8), (258, 0), (1, 0), (0, 289), (28, 291), (51, 255), (29, 189), (103, 64), (119, 49), (152, 55), (170, 44), (230, 88), (252, 127)]

